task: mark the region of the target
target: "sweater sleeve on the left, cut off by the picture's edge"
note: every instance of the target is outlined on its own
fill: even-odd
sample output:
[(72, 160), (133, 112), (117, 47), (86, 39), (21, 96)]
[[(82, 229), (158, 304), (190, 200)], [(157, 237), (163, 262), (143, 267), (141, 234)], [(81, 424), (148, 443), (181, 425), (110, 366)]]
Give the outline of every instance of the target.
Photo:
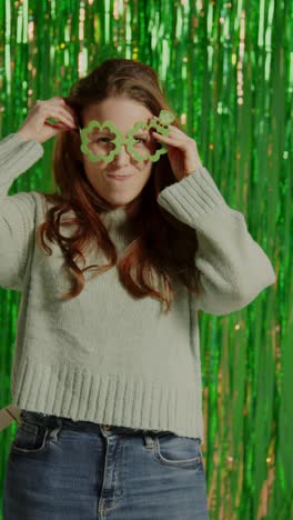
[(13, 180), (43, 154), (34, 140), (10, 133), (0, 141), (0, 287), (22, 292), (33, 247), (36, 199), (31, 193), (8, 196)]

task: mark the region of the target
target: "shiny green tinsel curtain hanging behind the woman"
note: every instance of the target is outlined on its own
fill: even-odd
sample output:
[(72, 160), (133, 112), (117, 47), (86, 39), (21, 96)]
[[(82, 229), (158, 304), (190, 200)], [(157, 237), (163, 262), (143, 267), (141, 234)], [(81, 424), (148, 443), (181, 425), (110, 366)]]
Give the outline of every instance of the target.
[[(0, 0), (1, 138), (37, 99), (67, 96), (105, 58), (144, 61), (276, 271), (276, 284), (247, 308), (200, 314), (211, 520), (293, 519), (292, 8), (290, 0)], [(9, 194), (50, 191), (52, 141)], [(0, 289), (0, 408), (12, 400), (19, 303), (19, 293)], [(0, 433), (0, 490), (16, 428)]]

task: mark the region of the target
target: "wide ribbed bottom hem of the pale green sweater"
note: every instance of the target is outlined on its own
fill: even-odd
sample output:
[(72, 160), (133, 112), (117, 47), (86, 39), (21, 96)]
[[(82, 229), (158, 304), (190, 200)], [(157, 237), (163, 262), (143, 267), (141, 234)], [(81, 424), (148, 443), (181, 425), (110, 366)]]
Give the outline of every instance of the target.
[[(13, 380), (13, 379), (12, 379)], [(169, 430), (203, 442), (201, 383), (184, 388), (89, 367), (44, 366), (26, 358), (12, 384), (19, 409), (143, 430)]]

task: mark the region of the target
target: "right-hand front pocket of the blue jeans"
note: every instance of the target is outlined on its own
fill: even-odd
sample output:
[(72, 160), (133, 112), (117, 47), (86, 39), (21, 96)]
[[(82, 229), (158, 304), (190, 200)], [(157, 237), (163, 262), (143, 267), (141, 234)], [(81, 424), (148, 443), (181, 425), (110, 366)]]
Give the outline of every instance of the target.
[(173, 467), (203, 470), (201, 440), (175, 433), (156, 436), (155, 453), (160, 462)]

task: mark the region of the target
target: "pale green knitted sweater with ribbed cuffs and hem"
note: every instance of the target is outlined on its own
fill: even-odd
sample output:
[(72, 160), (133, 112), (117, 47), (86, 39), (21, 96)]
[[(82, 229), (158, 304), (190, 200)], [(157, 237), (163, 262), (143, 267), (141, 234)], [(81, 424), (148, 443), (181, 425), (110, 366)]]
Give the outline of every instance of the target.
[[(196, 229), (201, 297), (174, 286), (172, 310), (134, 299), (117, 268), (89, 280), (68, 302), (61, 250), (36, 244), (44, 220), (36, 191), (8, 196), (13, 180), (43, 154), (37, 141), (0, 141), (0, 286), (21, 292), (11, 372), (19, 409), (131, 428), (170, 430), (204, 440), (198, 310), (223, 316), (253, 301), (276, 280), (244, 216), (231, 209), (204, 167), (165, 188), (158, 203)], [(102, 216), (118, 247), (127, 246), (121, 208)], [(91, 262), (99, 263), (98, 257)]]

